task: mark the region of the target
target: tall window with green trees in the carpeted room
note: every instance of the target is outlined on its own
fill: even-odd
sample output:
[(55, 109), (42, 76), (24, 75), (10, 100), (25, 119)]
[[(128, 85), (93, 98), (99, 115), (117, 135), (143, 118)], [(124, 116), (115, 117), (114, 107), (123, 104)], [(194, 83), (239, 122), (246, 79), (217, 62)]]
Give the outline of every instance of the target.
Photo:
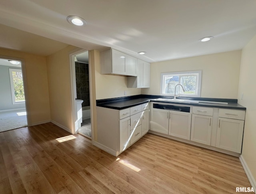
[(12, 103), (25, 103), (23, 79), (21, 69), (9, 69), (12, 91)]

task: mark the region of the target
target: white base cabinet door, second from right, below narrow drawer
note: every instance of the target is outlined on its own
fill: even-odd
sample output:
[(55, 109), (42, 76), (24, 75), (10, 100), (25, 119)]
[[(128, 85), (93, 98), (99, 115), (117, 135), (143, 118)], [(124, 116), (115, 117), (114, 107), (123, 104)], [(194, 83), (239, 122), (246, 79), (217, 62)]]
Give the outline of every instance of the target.
[(210, 145), (212, 133), (212, 117), (192, 114), (190, 140)]

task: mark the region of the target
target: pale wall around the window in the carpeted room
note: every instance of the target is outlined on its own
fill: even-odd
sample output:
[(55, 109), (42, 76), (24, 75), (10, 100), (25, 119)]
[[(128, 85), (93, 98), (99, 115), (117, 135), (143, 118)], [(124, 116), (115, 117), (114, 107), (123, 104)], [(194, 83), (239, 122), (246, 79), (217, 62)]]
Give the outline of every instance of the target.
[(21, 67), (11, 67), (0, 64), (0, 111), (25, 108), (25, 103), (12, 104), (9, 68), (21, 69)]

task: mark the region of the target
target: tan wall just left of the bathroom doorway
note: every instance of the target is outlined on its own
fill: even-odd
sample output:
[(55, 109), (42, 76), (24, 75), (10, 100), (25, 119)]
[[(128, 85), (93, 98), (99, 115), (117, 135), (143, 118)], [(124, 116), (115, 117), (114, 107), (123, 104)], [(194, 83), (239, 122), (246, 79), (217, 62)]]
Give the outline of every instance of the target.
[(72, 129), (70, 53), (76, 49), (67, 46), (46, 57), (51, 120), (67, 130)]

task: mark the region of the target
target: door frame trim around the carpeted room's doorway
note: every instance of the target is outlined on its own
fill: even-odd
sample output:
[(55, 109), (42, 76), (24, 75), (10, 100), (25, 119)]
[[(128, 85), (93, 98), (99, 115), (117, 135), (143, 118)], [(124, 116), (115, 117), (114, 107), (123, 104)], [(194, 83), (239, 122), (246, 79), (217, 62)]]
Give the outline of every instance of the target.
[(23, 79), (23, 87), (24, 87), (24, 95), (25, 95), (25, 107), (26, 107), (26, 117), (28, 126), (31, 126), (31, 114), (30, 114), (30, 107), (29, 107), (29, 97), (28, 97), (28, 87), (27, 87), (27, 77), (26, 77), (26, 63), (25, 60), (18, 57), (10, 57), (6, 55), (0, 55), (1, 59), (9, 59), (14, 61), (21, 62), (21, 71), (22, 71), (22, 79)]

